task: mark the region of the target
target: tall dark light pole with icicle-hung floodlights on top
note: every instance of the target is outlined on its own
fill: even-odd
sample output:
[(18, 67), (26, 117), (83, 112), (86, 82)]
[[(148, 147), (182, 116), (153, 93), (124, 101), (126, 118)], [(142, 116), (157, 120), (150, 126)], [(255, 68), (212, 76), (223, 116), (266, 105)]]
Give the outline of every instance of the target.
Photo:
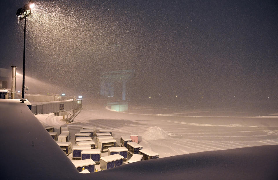
[(31, 10), (34, 8), (34, 2), (32, 0), (29, 1), (28, 4), (25, 4), (23, 8), (19, 8), (17, 10), (17, 18), (21, 21), (24, 19), (24, 42), (23, 42), (23, 73), (22, 73), (22, 98), (20, 101), (24, 103), (26, 101), (24, 99), (25, 94), (25, 84), (24, 84), (24, 75), (25, 75), (25, 33), (26, 33), (26, 18), (32, 14)]

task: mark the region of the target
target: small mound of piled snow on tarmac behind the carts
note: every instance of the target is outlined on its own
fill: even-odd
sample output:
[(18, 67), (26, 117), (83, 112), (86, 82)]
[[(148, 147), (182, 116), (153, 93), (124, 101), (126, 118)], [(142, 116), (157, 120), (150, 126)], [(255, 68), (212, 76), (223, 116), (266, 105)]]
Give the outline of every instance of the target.
[(166, 131), (160, 127), (149, 127), (147, 131), (142, 134), (142, 139), (144, 140), (158, 140), (169, 138), (169, 135)]

